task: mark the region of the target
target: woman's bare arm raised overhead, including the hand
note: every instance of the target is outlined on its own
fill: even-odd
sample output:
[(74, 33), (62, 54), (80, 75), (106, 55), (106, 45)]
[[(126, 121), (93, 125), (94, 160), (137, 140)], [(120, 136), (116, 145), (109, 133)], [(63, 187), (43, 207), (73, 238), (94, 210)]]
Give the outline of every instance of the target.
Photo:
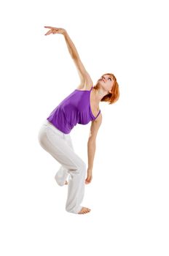
[(51, 33), (63, 34), (63, 36), (65, 37), (65, 40), (66, 40), (66, 44), (68, 46), (68, 51), (71, 54), (71, 57), (74, 60), (74, 64), (76, 65), (76, 69), (79, 73), (81, 85), (84, 85), (84, 83), (86, 83), (88, 86), (93, 86), (93, 81), (90, 78), (90, 75), (88, 74), (87, 70), (84, 68), (82, 61), (79, 58), (79, 54), (76, 50), (76, 47), (75, 47), (74, 43), (72, 42), (71, 38), (69, 37), (66, 29), (54, 28), (51, 26), (44, 26), (44, 27), (50, 29), (50, 31), (48, 31), (47, 34), (51, 34)]

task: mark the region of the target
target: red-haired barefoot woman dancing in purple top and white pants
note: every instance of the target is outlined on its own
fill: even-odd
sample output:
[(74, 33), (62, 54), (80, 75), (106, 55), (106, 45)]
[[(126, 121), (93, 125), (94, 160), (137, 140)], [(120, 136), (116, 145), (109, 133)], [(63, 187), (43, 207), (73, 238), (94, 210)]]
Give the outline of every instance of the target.
[[(67, 31), (51, 26), (44, 26), (44, 28), (50, 29), (45, 35), (63, 34), (81, 82), (44, 121), (39, 130), (39, 143), (60, 163), (55, 180), (60, 186), (68, 184), (66, 211), (74, 214), (87, 214), (90, 208), (81, 206), (81, 203), (84, 197), (84, 185), (90, 184), (93, 177), (95, 139), (102, 121), (99, 103), (116, 102), (119, 99), (119, 85), (113, 74), (106, 73), (93, 86), (93, 80), (84, 68)], [(92, 122), (87, 142), (88, 166), (87, 178), (85, 178), (86, 164), (74, 152), (70, 132), (76, 124), (88, 124), (90, 121)], [(68, 176), (68, 181), (66, 181)]]

